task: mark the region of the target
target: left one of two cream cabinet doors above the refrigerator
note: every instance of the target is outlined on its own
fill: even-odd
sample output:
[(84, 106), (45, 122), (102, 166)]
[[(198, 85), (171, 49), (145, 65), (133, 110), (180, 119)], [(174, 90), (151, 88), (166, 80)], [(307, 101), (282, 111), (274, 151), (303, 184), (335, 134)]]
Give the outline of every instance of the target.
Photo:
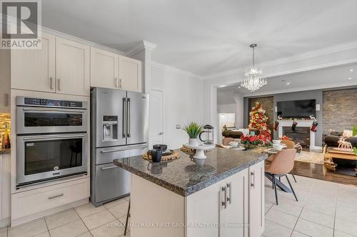
[(119, 89), (119, 55), (91, 47), (91, 87)]

